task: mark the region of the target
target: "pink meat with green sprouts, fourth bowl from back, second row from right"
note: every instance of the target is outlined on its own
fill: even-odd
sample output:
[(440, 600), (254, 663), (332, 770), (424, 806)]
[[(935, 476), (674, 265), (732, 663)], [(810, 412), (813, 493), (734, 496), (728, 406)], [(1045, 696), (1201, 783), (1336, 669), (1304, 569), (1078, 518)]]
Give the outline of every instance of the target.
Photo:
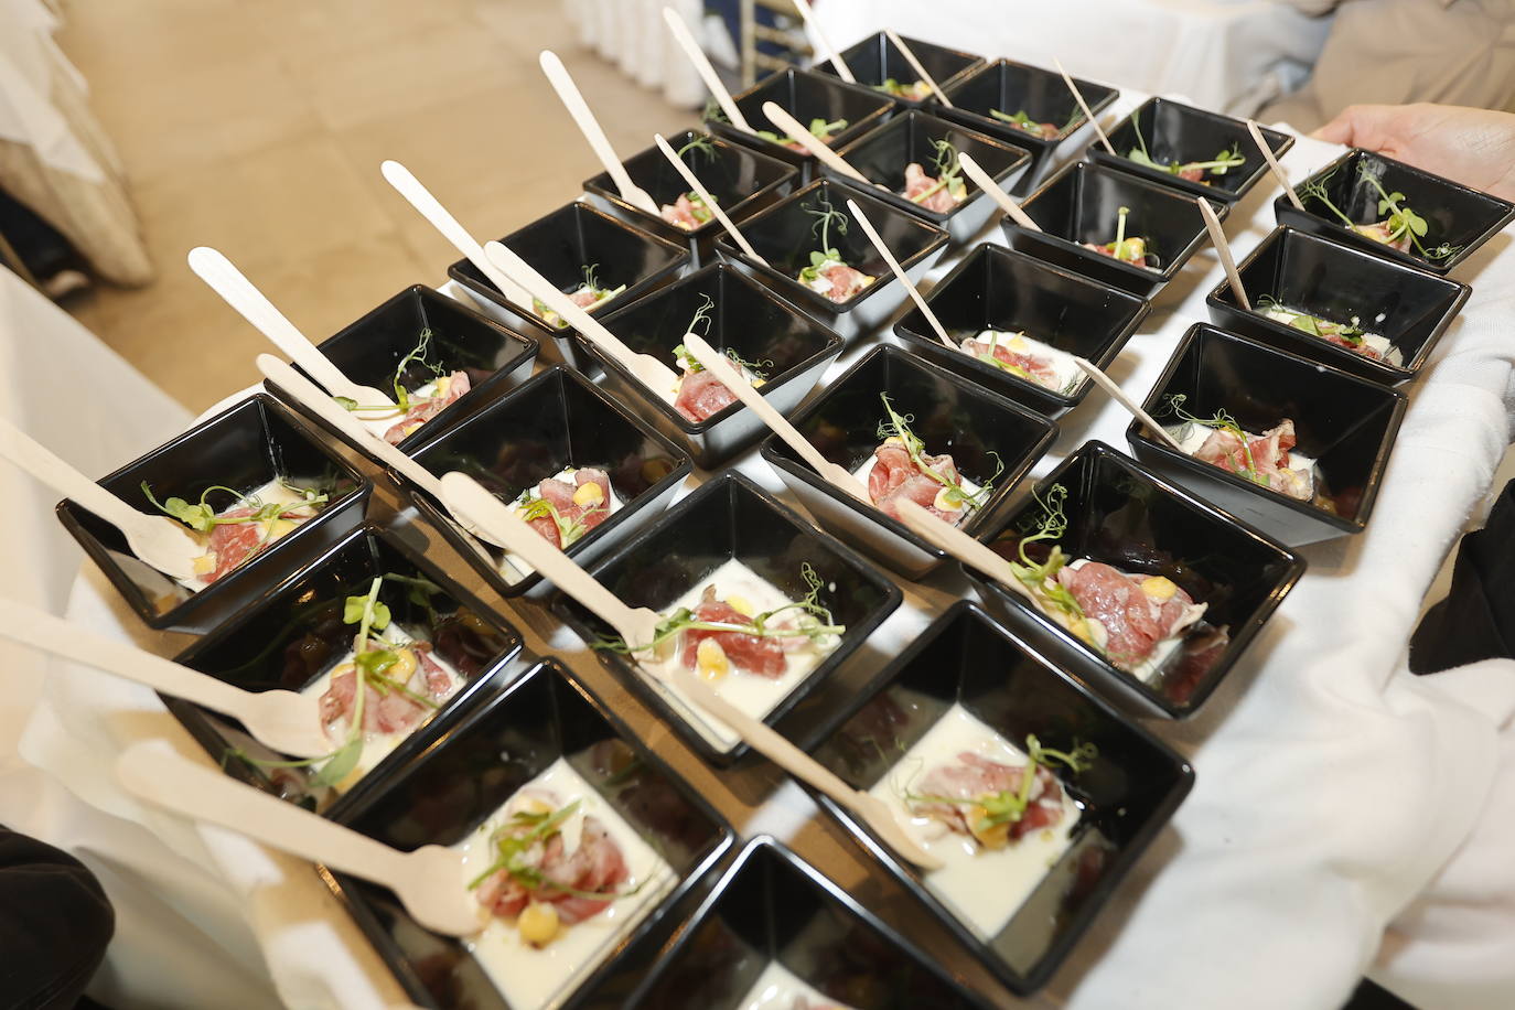
[[(900, 518), (900, 501), (914, 501), (939, 519), (961, 525), (994, 494), (994, 477), (976, 485), (957, 472), (950, 453), (930, 456), (926, 444), (911, 430), (911, 416), (894, 409), (888, 394), (882, 394), (885, 419), (879, 422), (883, 444), (873, 451), (853, 475), (868, 489), (873, 503), (892, 519)], [(997, 453), (991, 456), (998, 460)]]

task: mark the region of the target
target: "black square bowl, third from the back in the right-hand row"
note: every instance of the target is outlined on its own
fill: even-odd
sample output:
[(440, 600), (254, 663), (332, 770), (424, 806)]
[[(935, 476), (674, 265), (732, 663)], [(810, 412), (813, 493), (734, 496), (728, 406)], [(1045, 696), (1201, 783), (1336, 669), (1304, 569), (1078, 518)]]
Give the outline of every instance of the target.
[(1170, 397), (1209, 418), (1226, 410), (1247, 432), (1294, 421), (1298, 451), (1320, 460), (1326, 494), (1298, 501), (1179, 453), (1132, 422), (1136, 459), (1285, 544), (1362, 533), (1404, 416), (1406, 397), (1339, 368), (1195, 323), (1147, 395), (1147, 413), (1173, 422)]

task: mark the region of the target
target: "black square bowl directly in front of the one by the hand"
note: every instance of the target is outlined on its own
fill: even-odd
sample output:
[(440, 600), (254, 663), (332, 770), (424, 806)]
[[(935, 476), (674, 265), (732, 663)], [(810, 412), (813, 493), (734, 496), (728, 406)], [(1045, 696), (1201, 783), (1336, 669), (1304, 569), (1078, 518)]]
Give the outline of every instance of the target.
[[(1385, 385), (1409, 382), (1430, 357), (1473, 288), (1332, 238), (1277, 227), (1236, 267), (1253, 309), (1223, 280), (1204, 298), (1210, 320), (1253, 339)], [(1360, 320), (1398, 348), (1401, 362), (1373, 360), (1257, 312), (1268, 297), (1323, 320)]]

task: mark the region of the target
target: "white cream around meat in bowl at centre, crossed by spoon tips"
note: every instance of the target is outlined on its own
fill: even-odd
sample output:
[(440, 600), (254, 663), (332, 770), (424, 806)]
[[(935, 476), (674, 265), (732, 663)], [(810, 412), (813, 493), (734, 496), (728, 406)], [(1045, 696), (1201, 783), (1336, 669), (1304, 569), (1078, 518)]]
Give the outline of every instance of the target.
[[(680, 607), (694, 610), (700, 606), (704, 588), (712, 584), (715, 586), (717, 600), (732, 603), (733, 607), (741, 610), (742, 607), (738, 606), (738, 603), (733, 603), (733, 597), (736, 597), (741, 603), (751, 609), (753, 615), (777, 610), (779, 607), (795, 603), (792, 598), (786, 597), (782, 589), (733, 557), (709, 575), (695, 581), (686, 594), (664, 607), (662, 615), (668, 616)], [(798, 615), (800, 612), (795, 610), (791, 613)], [(642, 675), (648, 677), (659, 690), (677, 701), (677, 707), (682, 709), (685, 719), (701, 737), (704, 737), (706, 742), (711, 743), (711, 747), (720, 751), (729, 751), (736, 747), (741, 737), (724, 722), (700, 712), (694, 703), (685, 697), (682, 690), (679, 690), (679, 687), (659, 678), (661, 672), (671, 669), (674, 663), (682, 662), (682, 634), (677, 636), (677, 641), (673, 642), (671, 651), (659, 659), (651, 659), (645, 653), (636, 654), (638, 663), (644, 668)], [(823, 659), (835, 651), (838, 645), (841, 645), (839, 637), (827, 636), (821, 641), (811, 641), (795, 648), (786, 648), (783, 656), (785, 669), (777, 678), (748, 674), (732, 663), (730, 672), (720, 680), (708, 680), (706, 683), (709, 683), (711, 689), (714, 689), (715, 694), (726, 701), (732, 703), (751, 718), (762, 719), (773, 712), (774, 707), (777, 707), (779, 703), (783, 701), (789, 692), (794, 690), (800, 681), (803, 681), (811, 671), (821, 663)]]

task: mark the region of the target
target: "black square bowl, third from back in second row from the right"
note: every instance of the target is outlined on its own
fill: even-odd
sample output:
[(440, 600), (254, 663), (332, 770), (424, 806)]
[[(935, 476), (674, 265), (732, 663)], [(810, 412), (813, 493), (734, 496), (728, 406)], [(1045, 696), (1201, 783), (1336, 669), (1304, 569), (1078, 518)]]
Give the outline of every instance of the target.
[[(983, 330), (1024, 330), (1100, 368), (1110, 366), (1151, 310), (1145, 298), (992, 242), (980, 244), (953, 267), (926, 295), (926, 303), (947, 336), (957, 342)], [(911, 309), (895, 323), (894, 333), (912, 353), (1047, 416), (1071, 410), (1089, 394), (1088, 380), (1071, 392), (1051, 391), (950, 351), (920, 309)]]

